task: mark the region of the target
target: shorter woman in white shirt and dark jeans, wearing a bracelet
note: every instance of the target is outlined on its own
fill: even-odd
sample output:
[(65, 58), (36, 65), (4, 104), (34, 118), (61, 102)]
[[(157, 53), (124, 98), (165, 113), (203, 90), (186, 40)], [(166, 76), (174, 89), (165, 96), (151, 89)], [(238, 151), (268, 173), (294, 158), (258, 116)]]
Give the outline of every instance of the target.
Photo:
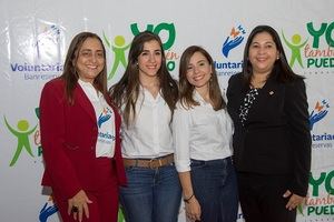
[(232, 120), (213, 59), (191, 46), (179, 67), (179, 102), (174, 114), (175, 162), (191, 221), (234, 222), (238, 200), (232, 164)]

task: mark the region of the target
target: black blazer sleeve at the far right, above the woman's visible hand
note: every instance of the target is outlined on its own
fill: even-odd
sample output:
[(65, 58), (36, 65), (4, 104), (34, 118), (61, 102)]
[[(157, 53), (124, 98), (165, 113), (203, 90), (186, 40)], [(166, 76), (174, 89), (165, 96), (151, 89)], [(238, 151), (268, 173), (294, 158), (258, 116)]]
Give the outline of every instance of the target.
[(293, 181), (291, 190), (306, 196), (311, 170), (311, 132), (305, 83), (302, 79), (288, 83), (285, 113), (291, 132)]

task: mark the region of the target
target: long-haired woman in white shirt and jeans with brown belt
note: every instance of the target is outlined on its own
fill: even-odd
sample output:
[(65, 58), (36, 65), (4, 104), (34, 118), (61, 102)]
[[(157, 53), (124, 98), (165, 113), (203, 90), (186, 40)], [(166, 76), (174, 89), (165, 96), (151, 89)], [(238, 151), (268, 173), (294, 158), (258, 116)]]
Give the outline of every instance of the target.
[(181, 189), (174, 164), (171, 119), (178, 89), (160, 38), (132, 40), (125, 74), (110, 89), (121, 110), (121, 151), (128, 185), (120, 190), (127, 222), (176, 222)]

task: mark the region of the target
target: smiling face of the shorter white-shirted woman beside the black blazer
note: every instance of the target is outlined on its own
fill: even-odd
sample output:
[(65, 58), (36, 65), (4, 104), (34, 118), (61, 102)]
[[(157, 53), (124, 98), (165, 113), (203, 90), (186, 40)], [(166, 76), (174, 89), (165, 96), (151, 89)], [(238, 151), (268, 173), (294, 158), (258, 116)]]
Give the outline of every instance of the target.
[(187, 80), (197, 90), (208, 89), (212, 72), (212, 65), (203, 53), (195, 52), (190, 57), (187, 67)]

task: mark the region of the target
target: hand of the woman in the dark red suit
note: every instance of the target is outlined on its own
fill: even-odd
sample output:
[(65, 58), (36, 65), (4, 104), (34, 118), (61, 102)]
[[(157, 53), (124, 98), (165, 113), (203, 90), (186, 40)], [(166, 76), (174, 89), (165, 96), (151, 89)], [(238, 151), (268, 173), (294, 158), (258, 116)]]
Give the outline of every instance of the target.
[(73, 219), (79, 219), (79, 222), (81, 222), (84, 213), (87, 219), (89, 218), (88, 203), (92, 203), (92, 201), (88, 199), (84, 190), (80, 190), (73, 198), (68, 200), (67, 213), (69, 215), (72, 213)]

